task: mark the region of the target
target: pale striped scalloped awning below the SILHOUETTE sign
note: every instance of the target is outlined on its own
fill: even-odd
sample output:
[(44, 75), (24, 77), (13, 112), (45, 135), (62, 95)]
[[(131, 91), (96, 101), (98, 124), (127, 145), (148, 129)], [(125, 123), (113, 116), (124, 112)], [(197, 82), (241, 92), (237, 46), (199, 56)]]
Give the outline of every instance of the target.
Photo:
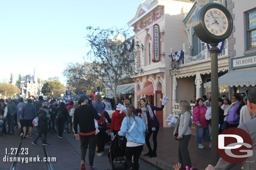
[[(256, 85), (256, 69), (246, 69), (238, 71), (230, 71), (219, 77), (219, 86), (255, 86)], [(204, 83), (204, 88), (211, 87), (212, 82)]]

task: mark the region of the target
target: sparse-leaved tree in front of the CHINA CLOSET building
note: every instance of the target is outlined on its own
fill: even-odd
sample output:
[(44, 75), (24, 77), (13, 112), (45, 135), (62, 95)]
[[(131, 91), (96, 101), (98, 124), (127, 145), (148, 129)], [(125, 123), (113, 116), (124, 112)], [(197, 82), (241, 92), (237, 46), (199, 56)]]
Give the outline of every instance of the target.
[[(143, 46), (135, 43), (131, 30), (86, 29), (89, 31), (86, 38), (91, 47), (86, 58), (91, 60), (89, 72), (113, 91), (117, 101), (117, 86), (125, 79), (143, 73), (134, 48), (138, 46), (143, 50)], [(113, 34), (116, 34), (114, 38)]]

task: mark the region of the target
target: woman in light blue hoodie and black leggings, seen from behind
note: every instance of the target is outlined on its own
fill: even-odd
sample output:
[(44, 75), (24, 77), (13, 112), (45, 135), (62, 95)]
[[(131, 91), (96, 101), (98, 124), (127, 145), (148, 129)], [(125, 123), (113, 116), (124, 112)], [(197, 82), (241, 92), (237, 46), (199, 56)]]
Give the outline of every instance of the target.
[(139, 169), (139, 157), (145, 143), (146, 125), (141, 118), (135, 115), (137, 115), (135, 107), (129, 106), (118, 132), (119, 136), (127, 138), (125, 157), (129, 170)]

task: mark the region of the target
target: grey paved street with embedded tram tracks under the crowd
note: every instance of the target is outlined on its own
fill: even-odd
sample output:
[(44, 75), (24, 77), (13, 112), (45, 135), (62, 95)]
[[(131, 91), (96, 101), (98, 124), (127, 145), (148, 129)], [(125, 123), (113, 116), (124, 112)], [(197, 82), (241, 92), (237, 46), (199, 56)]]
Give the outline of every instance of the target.
[[(34, 132), (33, 132), (34, 133)], [(79, 170), (80, 169), (80, 141), (73, 138), (73, 134), (68, 134), (64, 132), (63, 139), (57, 137), (57, 132), (54, 134), (47, 134), (47, 142), (50, 143), (47, 146), (47, 151), (50, 157), (56, 157), (56, 162), (52, 162), (54, 170)], [(33, 139), (23, 139), (21, 148), (29, 148), (28, 155), (19, 155), (19, 157), (37, 157), (39, 155), (40, 159), (44, 157), (42, 149), (42, 141), (39, 139), (37, 144), (34, 146), (31, 142), (36, 137), (36, 134), (33, 134)], [(18, 133), (15, 132), (15, 135), (6, 135), (0, 138), (1, 147), (0, 147), (0, 169), (7, 170), (10, 167), (11, 162), (3, 162), (3, 157), (5, 157), (5, 148), (16, 148), (19, 142), (20, 137)], [(105, 147), (105, 154), (101, 157), (95, 154), (94, 158), (94, 169), (95, 170), (107, 170), (111, 169), (109, 159), (107, 157), (107, 152), (110, 146)], [(8, 156), (8, 154), (7, 154)], [(88, 169), (88, 152), (86, 153), (86, 169)], [(17, 162), (16, 170), (47, 170), (45, 162), (28, 162), (21, 163)], [(140, 170), (160, 170), (160, 168), (145, 162), (144, 160), (140, 161)]]

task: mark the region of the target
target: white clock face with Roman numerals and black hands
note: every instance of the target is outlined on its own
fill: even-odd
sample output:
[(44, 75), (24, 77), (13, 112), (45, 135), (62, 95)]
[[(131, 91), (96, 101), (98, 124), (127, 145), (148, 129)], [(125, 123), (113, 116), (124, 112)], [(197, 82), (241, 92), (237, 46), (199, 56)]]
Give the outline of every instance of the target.
[(204, 15), (204, 24), (215, 36), (222, 36), (227, 32), (227, 16), (219, 9), (212, 8), (206, 11)]

